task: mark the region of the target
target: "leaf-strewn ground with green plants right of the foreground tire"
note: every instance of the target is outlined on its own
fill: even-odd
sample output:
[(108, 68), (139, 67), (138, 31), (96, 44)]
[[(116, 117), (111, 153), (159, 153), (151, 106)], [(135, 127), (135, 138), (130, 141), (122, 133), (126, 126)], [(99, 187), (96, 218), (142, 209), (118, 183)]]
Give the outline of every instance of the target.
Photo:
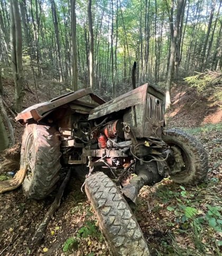
[[(181, 186), (164, 179), (144, 187), (136, 211), (153, 255), (222, 255), (222, 124), (182, 129), (208, 152), (207, 179)], [(148, 211), (147, 211), (148, 210)]]

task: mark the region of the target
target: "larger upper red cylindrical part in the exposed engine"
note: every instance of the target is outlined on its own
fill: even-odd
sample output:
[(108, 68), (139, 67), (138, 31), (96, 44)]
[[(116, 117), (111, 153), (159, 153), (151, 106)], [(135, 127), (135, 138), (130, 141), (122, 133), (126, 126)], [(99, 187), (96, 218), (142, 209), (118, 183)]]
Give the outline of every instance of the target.
[(118, 135), (119, 138), (124, 139), (123, 120), (119, 119), (109, 122), (103, 128), (103, 132), (107, 138), (114, 139)]

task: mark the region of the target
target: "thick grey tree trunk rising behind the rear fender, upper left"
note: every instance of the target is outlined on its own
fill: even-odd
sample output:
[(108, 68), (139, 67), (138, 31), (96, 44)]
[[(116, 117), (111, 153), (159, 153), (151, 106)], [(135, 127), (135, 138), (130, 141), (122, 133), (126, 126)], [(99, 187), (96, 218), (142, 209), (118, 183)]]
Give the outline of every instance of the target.
[(15, 82), (15, 111), (22, 111), (24, 98), (23, 67), (22, 67), (22, 27), (18, 10), (18, 2), (11, 0), (11, 58)]

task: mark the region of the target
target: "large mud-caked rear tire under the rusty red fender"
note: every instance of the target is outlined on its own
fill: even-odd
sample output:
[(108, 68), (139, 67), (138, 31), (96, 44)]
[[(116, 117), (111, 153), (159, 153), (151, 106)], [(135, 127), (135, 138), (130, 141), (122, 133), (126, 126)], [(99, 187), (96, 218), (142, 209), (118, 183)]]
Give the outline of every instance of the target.
[(26, 125), (20, 160), (21, 169), (27, 168), (22, 185), (26, 197), (42, 199), (53, 191), (59, 180), (60, 157), (56, 129), (38, 124)]

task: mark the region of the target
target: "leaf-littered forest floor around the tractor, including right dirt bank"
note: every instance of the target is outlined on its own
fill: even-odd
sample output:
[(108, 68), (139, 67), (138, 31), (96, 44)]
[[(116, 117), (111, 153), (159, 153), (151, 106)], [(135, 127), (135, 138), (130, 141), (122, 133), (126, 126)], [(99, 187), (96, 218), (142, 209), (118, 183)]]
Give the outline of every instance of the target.
[[(8, 90), (11, 86), (8, 85)], [(202, 142), (209, 154), (208, 177), (195, 187), (179, 186), (170, 179), (144, 187), (135, 216), (152, 255), (221, 255), (221, 109), (217, 105), (212, 107), (208, 99), (204, 99), (205, 111), (202, 112), (203, 104), (199, 103), (203, 99), (182, 91), (180, 94), (180, 91), (174, 90), (175, 104), (168, 113), (168, 125), (180, 127)], [(34, 99), (32, 94), (27, 94), (29, 106)], [(11, 107), (7, 93), (4, 99)], [(215, 109), (211, 111), (212, 108)], [(19, 129), (17, 139), (22, 134), (22, 127)], [(4, 176), (0, 175), (0, 179)], [(81, 185), (80, 180), (71, 177), (61, 206), (49, 223), (40, 246), (33, 246), (31, 239), (53, 195), (41, 201), (30, 200), (24, 197), (21, 188), (0, 195), (0, 255), (109, 255), (96, 216), (86, 195), (80, 191)]]

